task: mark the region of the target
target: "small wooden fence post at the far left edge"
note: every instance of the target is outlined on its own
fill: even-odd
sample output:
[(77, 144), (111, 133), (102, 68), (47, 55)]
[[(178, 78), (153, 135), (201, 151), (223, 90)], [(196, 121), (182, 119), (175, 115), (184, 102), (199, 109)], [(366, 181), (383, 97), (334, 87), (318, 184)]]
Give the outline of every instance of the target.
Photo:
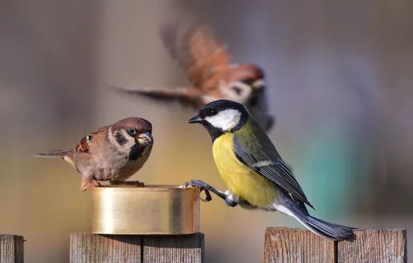
[(0, 235), (0, 263), (24, 262), (24, 237)]

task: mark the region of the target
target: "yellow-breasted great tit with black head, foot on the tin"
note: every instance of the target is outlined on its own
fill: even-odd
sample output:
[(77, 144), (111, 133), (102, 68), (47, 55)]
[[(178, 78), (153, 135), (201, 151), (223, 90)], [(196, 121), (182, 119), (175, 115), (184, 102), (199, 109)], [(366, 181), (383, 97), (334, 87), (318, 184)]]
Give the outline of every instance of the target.
[(301, 186), (277, 152), (270, 138), (249, 111), (231, 100), (211, 102), (188, 123), (202, 124), (213, 142), (213, 158), (227, 186), (222, 192), (203, 181), (183, 186), (217, 194), (229, 206), (279, 211), (294, 217), (313, 233), (341, 241), (355, 239), (355, 228), (331, 224), (310, 216), (313, 208)]

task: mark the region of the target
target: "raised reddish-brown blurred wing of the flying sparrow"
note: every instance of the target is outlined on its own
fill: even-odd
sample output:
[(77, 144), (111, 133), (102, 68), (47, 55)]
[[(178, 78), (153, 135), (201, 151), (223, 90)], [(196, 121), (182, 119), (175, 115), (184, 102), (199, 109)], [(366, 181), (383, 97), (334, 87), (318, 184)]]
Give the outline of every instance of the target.
[(164, 21), (159, 35), (170, 55), (184, 69), (189, 81), (198, 89), (215, 72), (229, 69), (230, 54), (209, 26), (195, 19), (171, 17)]

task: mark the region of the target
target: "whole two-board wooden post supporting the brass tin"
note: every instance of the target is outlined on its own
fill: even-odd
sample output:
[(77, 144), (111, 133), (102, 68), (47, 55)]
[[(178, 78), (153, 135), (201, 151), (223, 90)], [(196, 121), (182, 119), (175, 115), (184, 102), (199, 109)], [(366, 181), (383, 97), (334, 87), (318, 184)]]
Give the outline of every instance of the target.
[(70, 235), (70, 262), (204, 263), (204, 234)]

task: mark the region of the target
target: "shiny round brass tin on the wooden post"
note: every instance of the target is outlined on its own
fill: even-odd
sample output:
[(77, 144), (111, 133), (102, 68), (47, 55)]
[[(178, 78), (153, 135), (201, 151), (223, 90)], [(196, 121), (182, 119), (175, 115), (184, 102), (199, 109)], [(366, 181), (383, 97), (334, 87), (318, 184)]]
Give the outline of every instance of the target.
[(193, 234), (200, 226), (200, 189), (175, 185), (92, 188), (92, 233)]

